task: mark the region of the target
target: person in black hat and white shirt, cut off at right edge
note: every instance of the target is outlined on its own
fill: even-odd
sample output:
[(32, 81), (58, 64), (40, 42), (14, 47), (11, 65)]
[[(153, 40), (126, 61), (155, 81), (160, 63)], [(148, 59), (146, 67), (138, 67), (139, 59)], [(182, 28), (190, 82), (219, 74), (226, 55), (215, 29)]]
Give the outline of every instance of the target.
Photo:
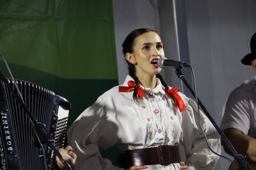
[[(256, 71), (256, 33), (251, 38), (250, 46), (252, 52), (245, 55), (241, 62)], [(256, 169), (256, 75), (230, 93), (223, 111), (221, 129), (237, 153), (245, 155), (252, 169)], [(223, 144), (225, 152), (232, 155)]]

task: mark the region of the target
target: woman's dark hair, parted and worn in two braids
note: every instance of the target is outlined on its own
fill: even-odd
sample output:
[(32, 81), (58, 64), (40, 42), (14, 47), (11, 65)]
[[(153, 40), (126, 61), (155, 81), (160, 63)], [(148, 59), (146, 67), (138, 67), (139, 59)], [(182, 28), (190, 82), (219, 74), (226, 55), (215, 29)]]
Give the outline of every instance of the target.
[[(148, 29), (148, 28), (141, 28), (141, 29), (135, 29), (134, 31), (132, 31), (124, 40), (123, 42), (123, 54), (125, 56), (126, 53), (133, 53), (133, 49), (134, 49), (134, 43), (135, 43), (135, 39), (142, 35), (145, 34), (147, 32), (156, 32), (152, 29)], [(157, 32), (156, 32), (157, 33)], [(140, 83), (140, 80), (138, 79), (138, 77), (136, 76), (135, 73), (135, 66), (134, 64), (131, 64), (131, 62), (129, 62), (128, 60), (126, 60), (127, 64), (128, 64), (128, 71), (129, 71), (129, 75), (134, 79), (135, 83), (138, 85), (138, 83)], [(168, 85), (165, 83), (165, 81), (163, 80), (163, 77), (161, 76), (161, 74), (157, 74), (156, 75), (157, 78), (159, 78), (159, 80), (161, 81), (161, 83), (163, 84), (165, 89), (169, 89)], [(134, 92), (133, 92), (133, 99), (134, 101), (137, 101), (137, 95), (138, 95), (138, 91), (135, 88)], [(174, 103), (175, 103), (175, 99), (172, 96), (172, 94), (170, 94)]]

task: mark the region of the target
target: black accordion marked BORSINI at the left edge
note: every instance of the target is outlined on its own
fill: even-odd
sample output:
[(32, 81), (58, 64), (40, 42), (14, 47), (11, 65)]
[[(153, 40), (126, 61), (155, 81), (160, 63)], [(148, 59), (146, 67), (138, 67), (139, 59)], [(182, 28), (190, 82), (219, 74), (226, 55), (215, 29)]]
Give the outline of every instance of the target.
[[(0, 169), (57, 169), (55, 156), (47, 145), (41, 145), (24, 107), (17, 100), (20, 91), (24, 105), (37, 122), (45, 125), (56, 148), (65, 145), (70, 103), (64, 97), (34, 83), (10, 78), (0, 82)], [(19, 91), (17, 90), (19, 89)], [(45, 164), (46, 161), (46, 164)]]

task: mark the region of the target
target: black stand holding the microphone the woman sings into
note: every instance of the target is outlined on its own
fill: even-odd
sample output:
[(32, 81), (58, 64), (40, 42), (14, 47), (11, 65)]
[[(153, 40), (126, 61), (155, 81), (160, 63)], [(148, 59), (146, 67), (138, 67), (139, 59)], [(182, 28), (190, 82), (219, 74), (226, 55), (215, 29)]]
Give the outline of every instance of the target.
[[(186, 87), (189, 89), (189, 91), (191, 92), (191, 94), (196, 98), (195, 96), (195, 92), (191, 89), (190, 85), (188, 84), (188, 82), (185, 79), (184, 74), (181, 71), (182, 66), (179, 67), (175, 67), (175, 73), (177, 74), (178, 78), (180, 80), (182, 80), (184, 82), (184, 84), (186, 85)], [(227, 137), (225, 136), (225, 134), (220, 130), (220, 128), (218, 127), (218, 125), (216, 125), (216, 122), (214, 122), (214, 120), (212, 119), (211, 115), (209, 114), (209, 112), (206, 110), (206, 108), (204, 107), (204, 105), (201, 103), (200, 99), (198, 99), (198, 104), (199, 106), (202, 108), (202, 110), (204, 111), (205, 115), (209, 118), (209, 120), (211, 121), (212, 125), (215, 127), (215, 129), (218, 131), (218, 133), (221, 136), (221, 139), (223, 139), (223, 141), (225, 142), (225, 144), (227, 145), (228, 149), (230, 150), (230, 152), (232, 152), (232, 155), (234, 157), (234, 159), (236, 160), (238, 166), (239, 166), (239, 170), (252, 170), (251, 167), (249, 166), (248, 162), (246, 162), (246, 160), (244, 159), (244, 156), (241, 154), (238, 154), (235, 150), (235, 148), (232, 146), (232, 144), (230, 143), (230, 141), (228, 141)]]

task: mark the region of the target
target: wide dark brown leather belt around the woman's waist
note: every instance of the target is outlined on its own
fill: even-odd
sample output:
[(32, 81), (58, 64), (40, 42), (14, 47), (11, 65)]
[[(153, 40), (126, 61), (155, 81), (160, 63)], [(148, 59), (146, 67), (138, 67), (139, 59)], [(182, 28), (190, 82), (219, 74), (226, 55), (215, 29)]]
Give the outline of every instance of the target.
[(180, 162), (179, 145), (160, 145), (153, 148), (127, 150), (117, 159), (121, 167), (145, 166), (145, 165), (168, 165)]

